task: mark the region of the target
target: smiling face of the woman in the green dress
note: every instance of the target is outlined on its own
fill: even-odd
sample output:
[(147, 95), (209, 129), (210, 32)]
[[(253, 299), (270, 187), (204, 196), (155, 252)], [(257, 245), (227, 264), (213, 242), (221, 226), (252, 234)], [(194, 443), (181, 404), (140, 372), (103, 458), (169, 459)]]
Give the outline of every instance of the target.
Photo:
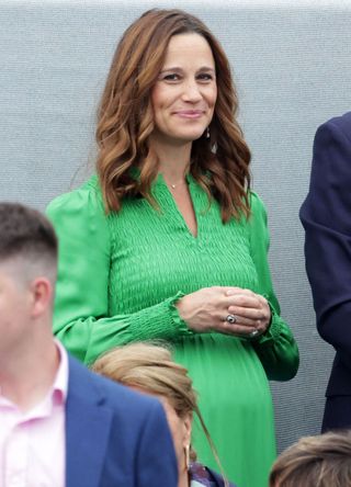
[(189, 143), (210, 125), (217, 99), (215, 61), (199, 34), (171, 37), (165, 65), (151, 92), (152, 138), (158, 143)]

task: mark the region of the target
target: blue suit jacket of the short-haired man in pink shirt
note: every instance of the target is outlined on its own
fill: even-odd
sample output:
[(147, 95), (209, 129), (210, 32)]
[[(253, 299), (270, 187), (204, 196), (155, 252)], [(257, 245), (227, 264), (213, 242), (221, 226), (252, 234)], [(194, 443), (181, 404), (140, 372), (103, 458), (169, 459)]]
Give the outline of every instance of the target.
[(177, 487), (162, 406), (69, 358), (66, 487)]

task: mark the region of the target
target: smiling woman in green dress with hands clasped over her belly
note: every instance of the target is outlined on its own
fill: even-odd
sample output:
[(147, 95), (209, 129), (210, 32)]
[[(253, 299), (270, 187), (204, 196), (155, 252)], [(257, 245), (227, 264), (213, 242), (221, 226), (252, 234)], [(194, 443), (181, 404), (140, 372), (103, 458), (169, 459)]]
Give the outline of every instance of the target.
[[(227, 57), (195, 16), (151, 10), (124, 33), (98, 114), (98, 175), (48, 207), (60, 258), (54, 331), (87, 364), (170, 341), (190, 371), (229, 478), (267, 484), (268, 378), (298, 366), (250, 191)], [(213, 455), (199, 431), (202, 461)]]

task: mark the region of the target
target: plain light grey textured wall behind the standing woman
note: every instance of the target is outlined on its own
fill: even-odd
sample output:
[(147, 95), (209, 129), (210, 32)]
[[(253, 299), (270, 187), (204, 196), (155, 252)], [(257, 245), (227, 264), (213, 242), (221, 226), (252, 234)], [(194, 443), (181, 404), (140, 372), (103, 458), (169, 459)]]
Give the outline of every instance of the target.
[(86, 179), (117, 38), (150, 5), (201, 16), (234, 69), (253, 189), (269, 209), (275, 290), (301, 348), (297, 377), (272, 383), (281, 450), (319, 431), (333, 355), (315, 330), (297, 214), (317, 126), (350, 110), (351, 0), (0, 1), (0, 199), (44, 209)]

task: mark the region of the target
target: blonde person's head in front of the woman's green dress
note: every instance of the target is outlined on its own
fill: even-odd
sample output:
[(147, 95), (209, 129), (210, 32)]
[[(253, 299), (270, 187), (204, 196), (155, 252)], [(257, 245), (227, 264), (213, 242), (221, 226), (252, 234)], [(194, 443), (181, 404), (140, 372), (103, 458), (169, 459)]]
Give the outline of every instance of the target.
[(185, 367), (173, 362), (168, 349), (156, 344), (132, 343), (107, 352), (98, 359), (92, 369), (113, 381), (157, 396), (161, 400), (173, 437), (180, 475), (186, 472), (188, 452), (190, 460), (196, 458), (190, 445), (194, 414), (199, 417), (218, 461), (197, 407), (192, 380)]

